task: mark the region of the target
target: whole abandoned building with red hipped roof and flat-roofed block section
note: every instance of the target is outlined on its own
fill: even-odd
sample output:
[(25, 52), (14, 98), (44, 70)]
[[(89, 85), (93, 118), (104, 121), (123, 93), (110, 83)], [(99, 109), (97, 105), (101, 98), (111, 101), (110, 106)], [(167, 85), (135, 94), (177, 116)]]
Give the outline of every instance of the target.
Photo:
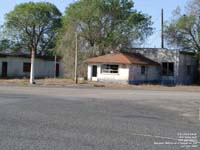
[(168, 49), (127, 49), (89, 58), (88, 80), (130, 84), (192, 84), (197, 60), (192, 53)]

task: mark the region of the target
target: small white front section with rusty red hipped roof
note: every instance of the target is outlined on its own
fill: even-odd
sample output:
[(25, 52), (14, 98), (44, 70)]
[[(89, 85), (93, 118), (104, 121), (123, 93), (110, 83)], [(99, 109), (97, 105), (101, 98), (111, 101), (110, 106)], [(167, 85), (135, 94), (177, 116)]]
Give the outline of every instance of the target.
[(160, 65), (140, 54), (110, 53), (89, 58), (88, 80), (120, 83), (157, 83)]

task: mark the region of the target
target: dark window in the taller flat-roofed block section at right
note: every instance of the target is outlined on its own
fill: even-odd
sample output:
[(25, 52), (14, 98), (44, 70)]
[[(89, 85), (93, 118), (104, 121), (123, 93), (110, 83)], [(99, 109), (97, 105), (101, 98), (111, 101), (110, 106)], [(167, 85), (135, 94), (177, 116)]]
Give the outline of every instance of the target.
[(174, 63), (173, 62), (162, 63), (162, 75), (163, 76), (174, 76)]

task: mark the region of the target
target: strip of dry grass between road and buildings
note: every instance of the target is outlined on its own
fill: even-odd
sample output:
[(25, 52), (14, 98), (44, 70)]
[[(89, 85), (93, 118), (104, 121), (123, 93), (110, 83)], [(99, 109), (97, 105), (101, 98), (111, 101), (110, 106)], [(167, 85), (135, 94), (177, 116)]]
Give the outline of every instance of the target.
[[(85, 80), (79, 80), (79, 84), (92, 85), (94, 87), (111, 87), (111, 88), (126, 88), (126, 89), (155, 89), (155, 90), (192, 90), (192, 91), (200, 91), (200, 86), (185, 86), (185, 85), (177, 85), (177, 86), (164, 86), (164, 85), (151, 85), (151, 84), (142, 84), (142, 85), (129, 85), (129, 84), (120, 84), (120, 83), (103, 83), (103, 82), (88, 82)], [(72, 79), (54, 79), (54, 78), (46, 78), (46, 79), (37, 79), (37, 86), (53, 86), (53, 87), (62, 87), (66, 85), (75, 84), (75, 81)], [(16, 85), (16, 86), (30, 86), (28, 79), (0, 79), (0, 85)]]

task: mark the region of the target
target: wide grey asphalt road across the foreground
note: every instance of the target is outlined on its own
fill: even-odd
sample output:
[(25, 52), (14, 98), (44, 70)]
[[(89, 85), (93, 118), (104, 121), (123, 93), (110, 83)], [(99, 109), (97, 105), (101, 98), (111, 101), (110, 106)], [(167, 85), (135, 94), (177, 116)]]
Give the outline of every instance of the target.
[(0, 150), (199, 150), (199, 109), (199, 91), (0, 86)]

